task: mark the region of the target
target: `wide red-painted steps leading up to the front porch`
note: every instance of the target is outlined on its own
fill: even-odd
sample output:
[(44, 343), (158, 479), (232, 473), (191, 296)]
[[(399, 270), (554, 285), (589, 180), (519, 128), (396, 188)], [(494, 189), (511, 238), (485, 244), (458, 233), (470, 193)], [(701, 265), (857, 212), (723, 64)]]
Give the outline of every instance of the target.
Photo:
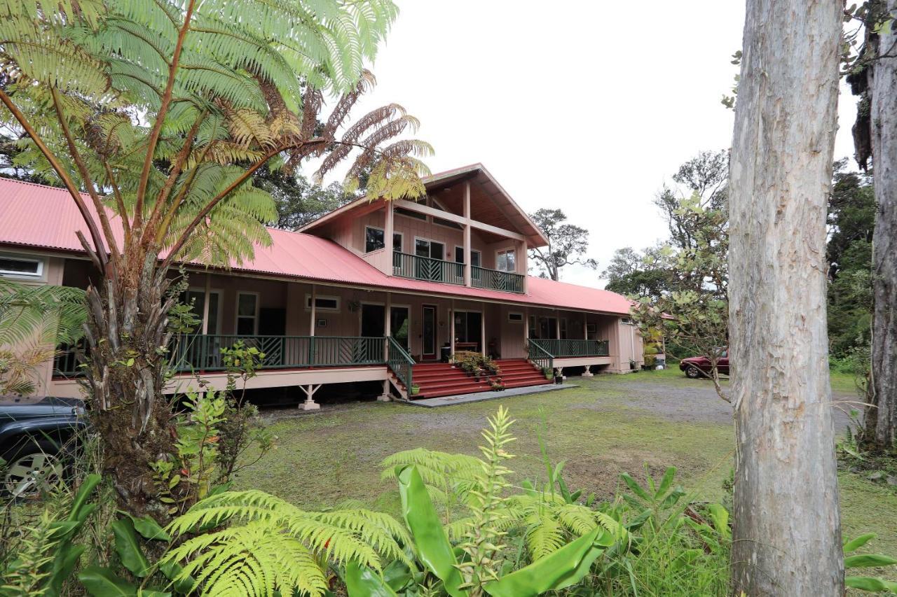
[[(548, 382), (542, 371), (527, 359), (501, 359), (498, 377), (506, 388), (545, 385)], [(438, 398), (456, 394), (475, 394), (492, 390), (491, 381), (496, 376), (475, 379), (468, 376), (463, 369), (448, 363), (419, 363), (413, 369), (414, 384), (420, 392), (412, 399)]]

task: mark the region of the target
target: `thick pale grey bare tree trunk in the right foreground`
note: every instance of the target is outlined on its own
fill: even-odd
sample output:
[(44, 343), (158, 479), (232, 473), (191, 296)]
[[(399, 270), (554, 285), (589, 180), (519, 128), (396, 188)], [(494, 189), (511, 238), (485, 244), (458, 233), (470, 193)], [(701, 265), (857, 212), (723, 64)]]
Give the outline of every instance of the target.
[(729, 229), (736, 594), (844, 591), (825, 321), (841, 8), (747, 0)]

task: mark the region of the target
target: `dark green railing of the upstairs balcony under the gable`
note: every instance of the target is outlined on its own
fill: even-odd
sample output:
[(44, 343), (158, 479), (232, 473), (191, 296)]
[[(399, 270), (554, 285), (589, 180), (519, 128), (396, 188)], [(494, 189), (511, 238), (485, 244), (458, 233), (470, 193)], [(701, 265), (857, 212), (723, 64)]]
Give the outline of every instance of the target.
[[(411, 280), (436, 281), (464, 286), (464, 264), (432, 257), (393, 252), (393, 275)], [(470, 285), (486, 290), (524, 292), (524, 276), (471, 265)]]

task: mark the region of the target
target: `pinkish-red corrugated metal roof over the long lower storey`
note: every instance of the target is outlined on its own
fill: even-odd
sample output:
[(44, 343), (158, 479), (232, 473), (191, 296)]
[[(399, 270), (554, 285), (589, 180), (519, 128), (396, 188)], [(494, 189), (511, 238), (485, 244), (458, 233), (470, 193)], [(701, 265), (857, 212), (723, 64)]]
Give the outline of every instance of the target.
[[(90, 205), (87, 195), (84, 199)], [(113, 224), (116, 223), (118, 218), (113, 219)], [(75, 236), (78, 230), (90, 238), (81, 214), (65, 189), (0, 178), (0, 245), (83, 253), (81, 243)], [(352, 251), (327, 238), (280, 229), (269, 229), (269, 232), (273, 241), (271, 247), (256, 247), (252, 261), (243, 264), (233, 262), (233, 270), (459, 299), (485, 299), (621, 315), (629, 313), (629, 300), (608, 290), (534, 276), (528, 277), (526, 295), (406, 280), (380, 272)], [(116, 229), (116, 236), (120, 242), (120, 226)]]

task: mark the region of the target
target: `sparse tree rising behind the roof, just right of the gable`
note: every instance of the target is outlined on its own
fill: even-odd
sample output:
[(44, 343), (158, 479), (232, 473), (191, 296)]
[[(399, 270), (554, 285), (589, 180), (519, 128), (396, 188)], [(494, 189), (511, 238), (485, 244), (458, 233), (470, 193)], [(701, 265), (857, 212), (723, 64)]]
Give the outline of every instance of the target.
[(585, 257), (588, 250), (588, 230), (564, 223), (567, 216), (561, 210), (542, 208), (529, 217), (536, 222), (548, 239), (548, 247), (530, 249), (529, 258), (540, 270), (544, 278), (557, 281), (561, 279), (561, 268), (564, 265), (579, 264), (596, 269), (594, 259)]

